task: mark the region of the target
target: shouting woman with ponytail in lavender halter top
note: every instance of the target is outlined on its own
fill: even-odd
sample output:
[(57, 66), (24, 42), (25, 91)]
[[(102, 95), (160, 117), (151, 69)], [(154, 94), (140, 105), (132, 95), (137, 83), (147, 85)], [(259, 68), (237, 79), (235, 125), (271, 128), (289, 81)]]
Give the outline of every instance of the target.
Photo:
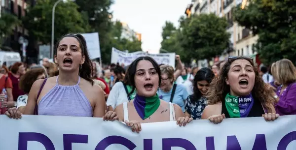
[[(104, 92), (91, 79), (92, 61), (84, 37), (81, 34), (63, 36), (54, 53), (59, 75), (33, 84), (24, 114), (116, 120), (116, 113), (105, 113)], [(10, 118), (21, 118), (16, 108), (10, 108), (5, 114)]]

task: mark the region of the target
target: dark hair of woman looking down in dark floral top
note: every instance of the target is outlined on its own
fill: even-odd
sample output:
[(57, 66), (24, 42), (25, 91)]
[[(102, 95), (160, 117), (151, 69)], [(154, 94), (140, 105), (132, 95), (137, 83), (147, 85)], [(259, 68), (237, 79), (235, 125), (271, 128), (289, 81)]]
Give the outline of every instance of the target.
[(211, 84), (212, 80), (215, 78), (215, 74), (210, 68), (201, 68), (197, 71), (197, 73), (194, 76), (194, 79), (192, 81), (193, 85), (193, 99), (192, 103), (195, 104), (201, 96), (204, 96), (200, 90), (197, 88), (197, 82), (199, 81), (207, 81), (209, 84)]

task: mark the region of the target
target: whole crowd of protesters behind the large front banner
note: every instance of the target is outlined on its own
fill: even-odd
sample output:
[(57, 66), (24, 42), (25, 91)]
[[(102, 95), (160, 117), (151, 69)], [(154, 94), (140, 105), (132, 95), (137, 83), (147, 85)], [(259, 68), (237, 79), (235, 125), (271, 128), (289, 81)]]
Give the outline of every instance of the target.
[(259, 68), (250, 57), (229, 57), (211, 68), (176, 68), (139, 57), (128, 66), (102, 67), (89, 58), (80, 34), (63, 36), (54, 62), (16, 62), (0, 69), (0, 114), (103, 117), (141, 123), (263, 117), (296, 114), (296, 68), (287, 59)]

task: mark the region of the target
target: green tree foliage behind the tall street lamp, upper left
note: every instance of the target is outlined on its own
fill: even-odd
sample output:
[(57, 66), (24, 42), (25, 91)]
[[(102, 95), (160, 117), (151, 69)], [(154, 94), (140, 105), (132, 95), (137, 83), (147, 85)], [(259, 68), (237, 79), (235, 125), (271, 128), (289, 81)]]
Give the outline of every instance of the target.
[[(44, 44), (51, 42), (52, 7), (55, 0), (37, 0), (34, 7), (28, 8), (28, 13), (23, 18), (23, 24), (38, 42)], [(55, 38), (68, 33), (84, 33), (89, 31), (86, 16), (77, 11), (74, 2), (60, 2), (55, 10)]]

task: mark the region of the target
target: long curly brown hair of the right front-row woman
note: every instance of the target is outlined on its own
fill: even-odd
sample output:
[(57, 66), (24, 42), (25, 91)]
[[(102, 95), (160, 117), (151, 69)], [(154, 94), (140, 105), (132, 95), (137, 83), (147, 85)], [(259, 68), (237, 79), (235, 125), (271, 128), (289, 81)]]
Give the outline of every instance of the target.
[(215, 77), (210, 84), (210, 89), (207, 92), (208, 105), (225, 101), (224, 98), (226, 94), (230, 92), (230, 87), (226, 84), (226, 79), (228, 77), (230, 65), (235, 60), (248, 60), (251, 63), (255, 72), (255, 84), (252, 90), (252, 95), (255, 100), (259, 100), (261, 102), (263, 107), (267, 109), (268, 113), (272, 113), (270, 106), (273, 105), (274, 98), (270, 94), (270, 91), (267, 90), (267, 86), (265, 85), (263, 79), (259, 76), (258, 69), (254, 66), (253, 60), (246, 59), (245, 57), (228, 59), (228, 61), (223, 65), (219, 76)]

